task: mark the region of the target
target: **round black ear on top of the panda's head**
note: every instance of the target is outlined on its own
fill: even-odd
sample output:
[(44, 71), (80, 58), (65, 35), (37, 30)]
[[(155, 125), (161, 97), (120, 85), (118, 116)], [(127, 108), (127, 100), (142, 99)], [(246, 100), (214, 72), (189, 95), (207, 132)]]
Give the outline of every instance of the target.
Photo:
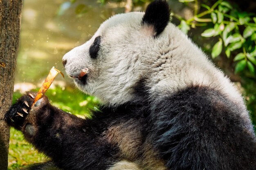
[(142, 24), (153, 26), (155, 37), (164, 31), (170, 20), (170, 8), (166, 0), (151, 2), (142, 18)]

